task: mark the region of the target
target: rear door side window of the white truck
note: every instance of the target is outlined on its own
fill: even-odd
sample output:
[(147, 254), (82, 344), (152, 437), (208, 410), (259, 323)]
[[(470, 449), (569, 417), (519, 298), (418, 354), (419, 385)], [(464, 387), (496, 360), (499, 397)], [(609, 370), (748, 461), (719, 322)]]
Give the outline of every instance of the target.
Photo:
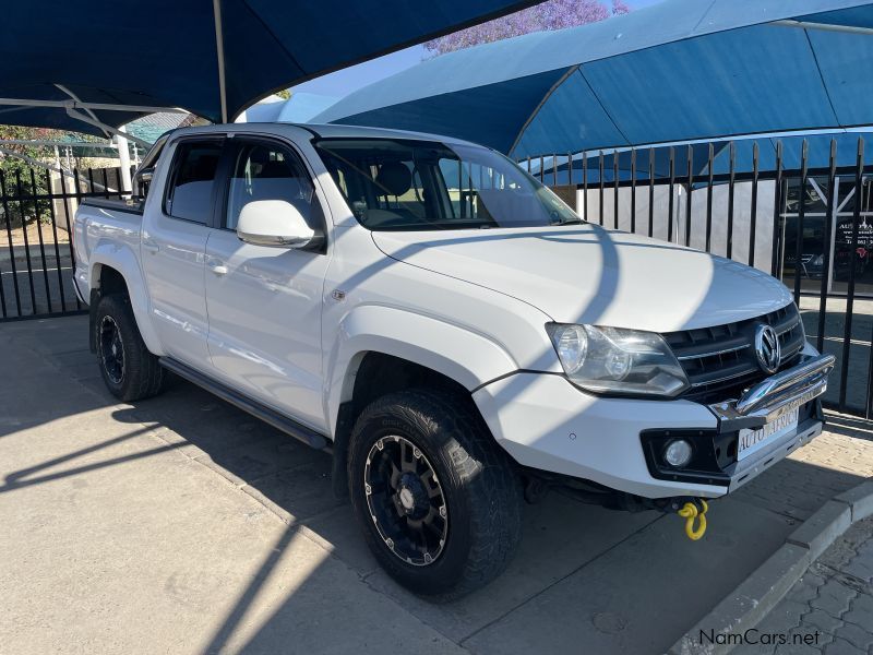
[(164, 203), (164, 211), (168, 215), (204, 225), (208, 223), (213, 210), (215, 171), (220, 157), (220, 141), (179, 144)]

